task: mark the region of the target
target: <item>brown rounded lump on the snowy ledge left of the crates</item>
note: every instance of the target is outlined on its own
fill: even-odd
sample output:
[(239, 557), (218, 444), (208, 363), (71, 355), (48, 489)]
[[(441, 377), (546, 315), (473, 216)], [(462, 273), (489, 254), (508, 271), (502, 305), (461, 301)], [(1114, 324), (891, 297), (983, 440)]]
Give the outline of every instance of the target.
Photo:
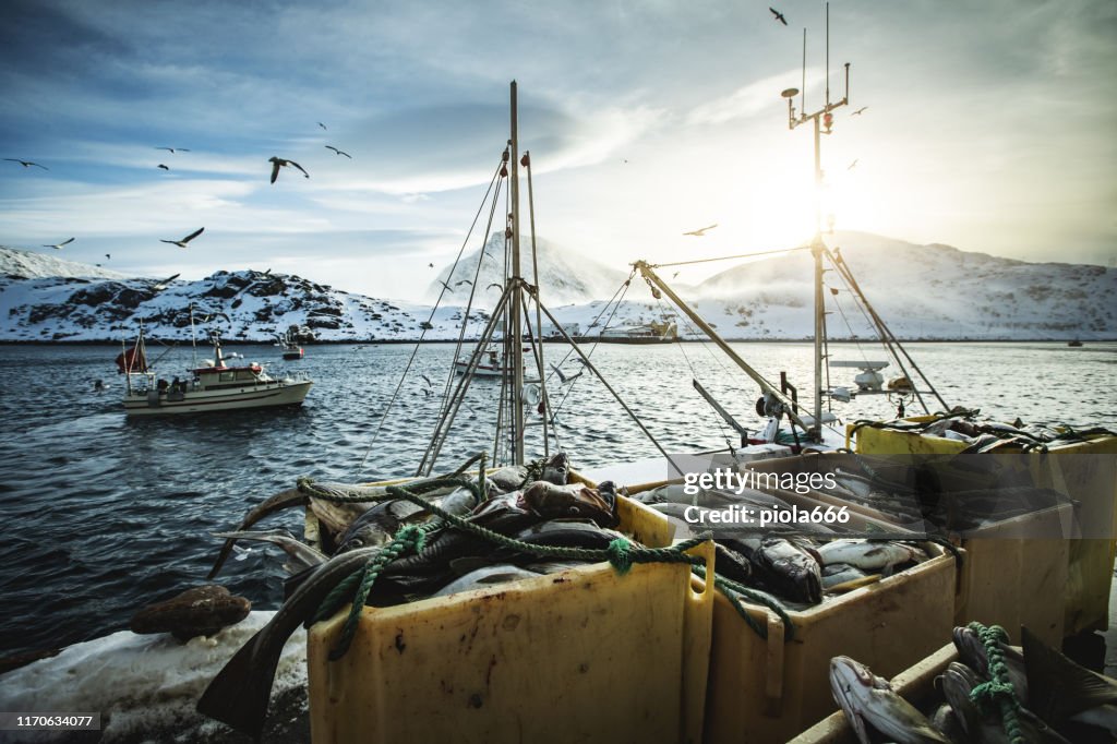
[(181, 641), (212, 636), (248, 617), (252, 603), (220, 584), (203, 584), (132, 616), (134, 633), (171, 633)]

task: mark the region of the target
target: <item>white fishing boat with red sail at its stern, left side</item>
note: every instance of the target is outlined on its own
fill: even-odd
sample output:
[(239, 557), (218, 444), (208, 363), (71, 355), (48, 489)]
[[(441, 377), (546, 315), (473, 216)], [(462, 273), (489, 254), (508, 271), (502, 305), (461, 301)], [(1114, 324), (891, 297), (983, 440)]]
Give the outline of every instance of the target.
[(229, 366), (221, 340), (210, 334), (213, 357), (172, 380), (160, 378), (147, 363), (143, 326), (131, 347), (116, 357), (125, 375), (124, 410), (128, 416), (207, 413), (254, 408), (300, 406), (313, 382), (305, 375), (270, 376), (260, 364)]

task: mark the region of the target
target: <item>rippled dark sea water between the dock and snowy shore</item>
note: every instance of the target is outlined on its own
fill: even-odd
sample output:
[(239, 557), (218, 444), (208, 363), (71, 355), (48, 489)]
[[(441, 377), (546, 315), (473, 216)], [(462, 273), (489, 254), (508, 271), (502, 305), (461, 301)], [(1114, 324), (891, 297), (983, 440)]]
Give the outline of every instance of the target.
[[(810, 398), (812, 345), (742, 343), (737, 353), (767, 379), (780, 371)], [(591, 347), (588, 346), (586, 350)], [(448, 383), (452, 344), (312, 345), (306, 359), (280, 360), (274, 346), (230, 346), (274, 375), (300, 371), (315, 381), (299, 409), (126, 418), (120, 347), (0, 346), (0, 656), (58, 648), (127, 627), (152, 602), (204, 583), (222, 541), (268, 496), (299, 476), (372, 480), (413, 475), (430, 441)], [(546, 344), (546, 368), (570, 378), (583, 369), (567, 349)], [(1100, 425), (1117, 429), (1117, 343), (1069, 349), (1056, 343), (927, 343), (909, 352), (948, 406), (1025, 422)], [(149, 346), (155, 359), (162, 353)], [(879, 349), (831, 345), (831, 359), (876, 361)], [(201, 354), (200, 354), (201, 355)], [(412, 357), (413, 355), (413, 357)], [(743, 426), (758, 429), (760, 392), (707, 344), (607, 345), (592, 362), (669, 452), (736, 443), (738, 435), (694, 390), (698, 380)], [(161, 376), (183, 376), (189, 349), (159, 362)], [(404, 369), (411, 365), (405, 378)], [(852, 385), (853, 369), (831, 371), (831, 384)], [(885, 375), (896, 376), (892, 366)], [(426, 375), (428, 380), (424, 380)], [(531, 370), (527, 378), (537, 376)], [(94, 389), (96, 380), (105, 385)], [(605, 387), (584, 371), (546, 381), (552, 435), (575, 467), (655, 457), (659, 450)], [(500, 399), (498, 380), (477, 380), (461, 407), (438, 470), (479, 450), (491, 452)], [(391, 403), (390, 414), (384, 413)], [(932, 410), (942, 407), (934, 401)], [(908, 413), (922, 412), (910, 403)], [(529, 420), (541, 421), (535, 407)], [(860, 398), (836, 404), (842, 420), (891, 418), (895, 401)], [(528, 430), (537, 450), (542, 427)], [(554, 446), (554, 439), (552, 440)], [(363, 465), (362, 465), (363, 462)], [(665, 468), (666, 471), (666, 468)], [(300, 534), (292, 509), (261, 524)], [(255, 609), (281, 599), (284, 562), (274, 547), (252, 545), (230, 560), (219, 581)]]

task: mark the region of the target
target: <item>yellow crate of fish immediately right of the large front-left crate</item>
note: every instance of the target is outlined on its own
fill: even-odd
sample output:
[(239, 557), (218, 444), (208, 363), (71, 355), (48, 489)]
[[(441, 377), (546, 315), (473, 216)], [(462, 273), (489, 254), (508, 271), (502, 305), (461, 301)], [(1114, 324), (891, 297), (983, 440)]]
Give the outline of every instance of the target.
[(747, 604), (766, 623), (761, 639), (717, 594), (710, 647), (705, 741), (786, 742), (837, 709), (831, 657), (846, 655), (891, 675), (930, 654), (954, 628), (955, 561), (936, 556), (809, 610), (791, 611), (794, 640), (767, 608)]

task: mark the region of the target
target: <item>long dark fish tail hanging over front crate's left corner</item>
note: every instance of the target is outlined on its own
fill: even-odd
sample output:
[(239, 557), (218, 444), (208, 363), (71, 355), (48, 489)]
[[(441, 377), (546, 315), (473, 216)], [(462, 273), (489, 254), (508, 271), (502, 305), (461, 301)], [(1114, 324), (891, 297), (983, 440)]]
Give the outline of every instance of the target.
[(259, 740), (276, 666), (287, 639), (317, 612), (334, 586), (363, 566), (375, 551), (374, 547), (350, 551), (318, 566), (221, 668), (198, 699), (198, 712)]

